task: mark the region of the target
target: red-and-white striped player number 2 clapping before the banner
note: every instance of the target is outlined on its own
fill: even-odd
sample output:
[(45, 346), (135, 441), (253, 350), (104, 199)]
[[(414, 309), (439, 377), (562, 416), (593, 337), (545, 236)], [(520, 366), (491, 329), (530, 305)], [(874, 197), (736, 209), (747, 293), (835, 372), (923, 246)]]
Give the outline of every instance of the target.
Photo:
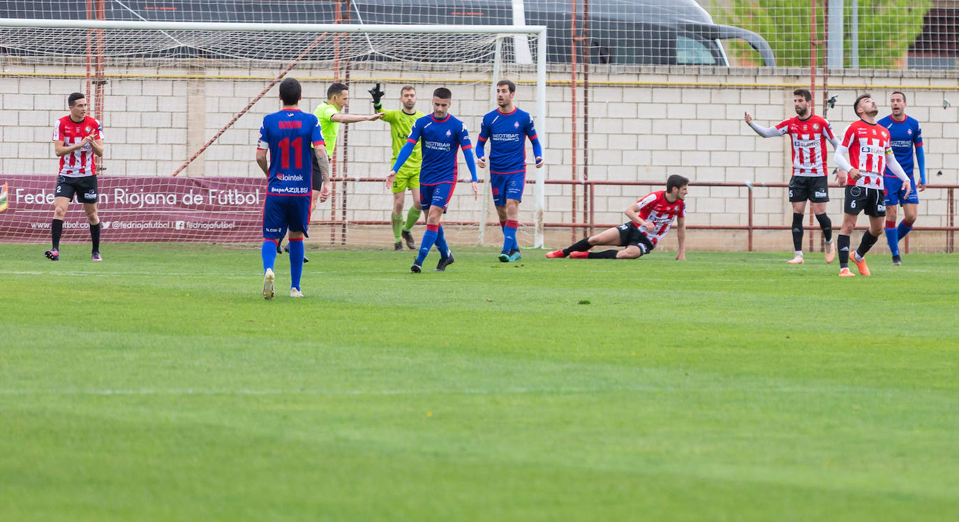
[(54, 197), (54, 219), (50, 224), (53, 246), (44, 252), (50, 261), (59, 260), (59, 238), (63, 234), (63, 216), (70, 201), (77, 196), (82, 203), (86, 222), (90, 224), (92, 261), (100, 256), (100, 217), (97, 216), (97, 157), (104, 157), (104, 128), (86, 115), (86, 97), (73, 93), (67, 98), (70, 114), (54, 126), (54, 151), (60, 159), (57, 192)]

